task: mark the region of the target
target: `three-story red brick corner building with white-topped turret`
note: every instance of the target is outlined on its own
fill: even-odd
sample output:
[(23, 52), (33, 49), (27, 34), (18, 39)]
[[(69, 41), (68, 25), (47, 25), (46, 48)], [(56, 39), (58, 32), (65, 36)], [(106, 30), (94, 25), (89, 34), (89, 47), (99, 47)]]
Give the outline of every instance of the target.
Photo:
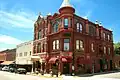
[(113, 34), (97, 21), (75, 14), (69, 0), (59, 13), (39, 15), (34, 25), (34, 67), (45, 72), (57, 66), (62, 74), (112, 70)]

